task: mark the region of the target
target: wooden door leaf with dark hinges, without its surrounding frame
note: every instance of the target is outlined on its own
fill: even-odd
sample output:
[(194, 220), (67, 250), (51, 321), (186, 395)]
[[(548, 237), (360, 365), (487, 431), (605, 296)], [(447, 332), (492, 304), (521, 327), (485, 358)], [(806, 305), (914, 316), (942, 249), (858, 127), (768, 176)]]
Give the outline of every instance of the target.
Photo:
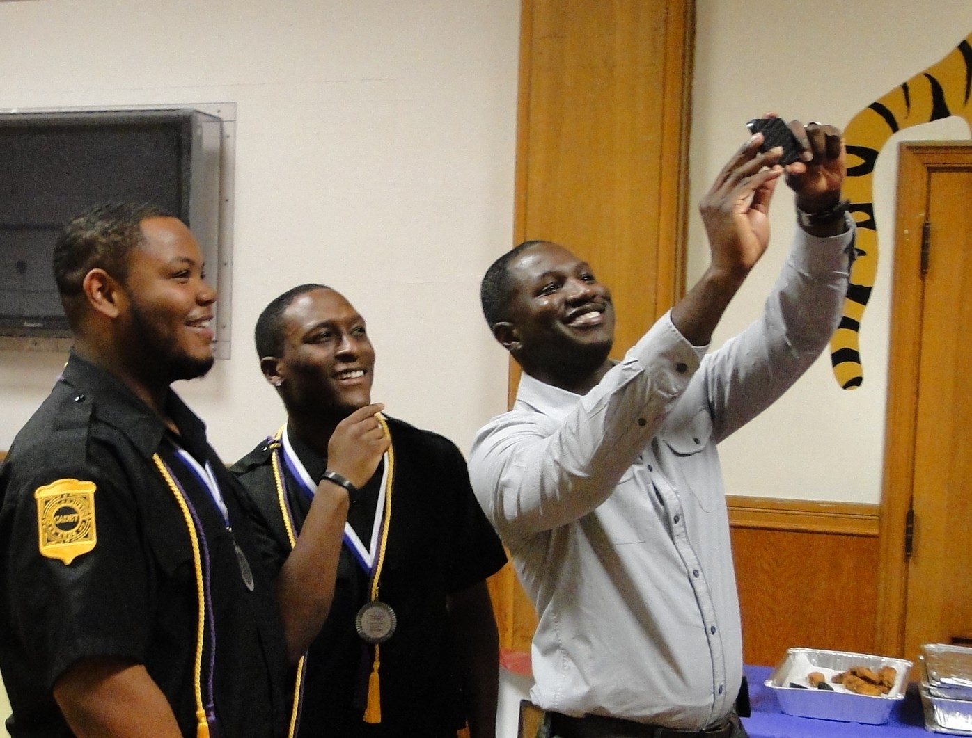
[(905, 653), (972, 644), (972, 165), (928, 176)]

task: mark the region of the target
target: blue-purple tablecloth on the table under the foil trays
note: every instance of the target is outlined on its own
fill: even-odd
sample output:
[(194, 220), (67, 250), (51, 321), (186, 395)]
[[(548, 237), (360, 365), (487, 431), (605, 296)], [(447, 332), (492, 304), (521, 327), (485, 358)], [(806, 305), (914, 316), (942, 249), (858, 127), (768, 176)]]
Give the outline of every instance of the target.
[(752, 715), (744, 718), (743, 724), (749, 738), (918, 738), (934, 735), (924, 729), (917, 685), (909, 686), (905, 698), (894, 705), (890, 719), (883, 725), (821, 721), (784, 714), (777, 695), (764, 684), (772, 672), (770, 666), (746, 666)]

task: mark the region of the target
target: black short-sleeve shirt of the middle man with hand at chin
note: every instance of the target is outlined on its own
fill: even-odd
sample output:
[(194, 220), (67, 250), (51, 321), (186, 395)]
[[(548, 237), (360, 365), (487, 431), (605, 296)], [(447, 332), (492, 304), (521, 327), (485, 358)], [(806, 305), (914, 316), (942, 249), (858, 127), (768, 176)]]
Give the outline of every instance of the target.
[[(368, 599), (369, 576), (347, 545), (342, 548), (330, 615), (307, 654), (299, 735), (346, 738), (455, 736), (465, 724), (459, 678), (449, 649), (446, 597), (478, 584), (506, 561), (503, 546), (469, 486), (466, 460), (448, 439), (398, 419), (388, 419), (395, 459), (392, 516), (379, 599), (398, 621), (381, 644), (381, 722), (364, 723), (367, 676), (373, 650), (355, 629)], [(327, 460), (290, 441), (311, 479)], [(290, 552), (278, 502), (269, 440), (234, 464), (259, 511), (264, 555), (276, 570)], [(283, 461), (283, 459), (281, 459)], [(286, 462), (280, 468), (285, 496), (299, 529), (310, 507)], [(349, 522), (365, 543), (370, 538), (384, 467), (362, 489)]]

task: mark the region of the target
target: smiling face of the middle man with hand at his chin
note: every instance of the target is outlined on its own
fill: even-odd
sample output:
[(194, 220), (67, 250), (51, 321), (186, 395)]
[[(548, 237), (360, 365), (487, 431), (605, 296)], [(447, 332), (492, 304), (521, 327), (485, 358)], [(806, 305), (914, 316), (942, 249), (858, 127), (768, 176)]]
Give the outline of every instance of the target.
[(370, 403), (374, 348), (351, 303), (333, 289), (312, 289), (297, 295), (282, 319), (282, 355), (261, 365), (292, 415), (342, 419)]

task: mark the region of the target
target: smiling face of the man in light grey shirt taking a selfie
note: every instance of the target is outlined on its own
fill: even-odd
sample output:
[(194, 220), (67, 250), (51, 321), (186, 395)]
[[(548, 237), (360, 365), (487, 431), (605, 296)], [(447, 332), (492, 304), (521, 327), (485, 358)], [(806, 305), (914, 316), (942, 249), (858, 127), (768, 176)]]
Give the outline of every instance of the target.
[(507, 320), (494, 334), (524, 371), (576, 390), (600, 379), (614, 341), (610, 291), (557, 244), (538, 243), (508, 265)]

